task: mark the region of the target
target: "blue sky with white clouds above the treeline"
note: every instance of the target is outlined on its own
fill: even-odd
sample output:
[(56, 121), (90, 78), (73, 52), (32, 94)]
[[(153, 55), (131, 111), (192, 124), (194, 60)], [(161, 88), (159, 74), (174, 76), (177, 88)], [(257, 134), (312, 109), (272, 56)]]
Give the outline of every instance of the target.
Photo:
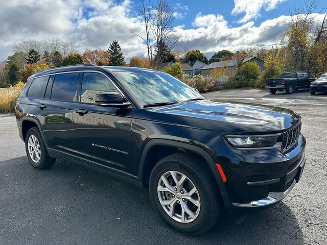
[[(198, 49), (210, 58), (223, 49), (278, 43), (289, 11), (305, 0), (168, 2), (176, 17), (175, 48)], [(1, 0), (0, 61), (12, 54), (14, 43), (50, 37), (77, 42), (80, 53), (87, 48), (106, 50), (112, 40), (118, 40), (127, 62), (134, 56), (146, 57), (146, 46), (130, 32), (143, 32), (135, 11), (138, 4), (139, 0)], [(326, 7), (321, 1), (316, 19), (322, 18)]]

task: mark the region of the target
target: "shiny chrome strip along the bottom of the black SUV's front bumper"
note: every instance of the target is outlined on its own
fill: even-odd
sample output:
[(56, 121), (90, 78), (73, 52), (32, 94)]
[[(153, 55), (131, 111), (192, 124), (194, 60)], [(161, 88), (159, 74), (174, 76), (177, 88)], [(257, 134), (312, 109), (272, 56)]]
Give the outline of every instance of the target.
[(258, 200), (258, 201), (252, 201), (250, 203), (232, 203), (232, 205), (237, 206), (237, 207), (243, 207), (243, 208), (251, 208), (251, 207), (262, 207), (266, 205), (270, 205), (276, 202), (281, 201), (284, 199), (288, 193), (293, 189), (294, 185), (296, 183), (296, 180), (293, 181), (292, 185), (290, 188), (288, 188), (284, 192), (269, 192), (269, 195), (267, 198)]

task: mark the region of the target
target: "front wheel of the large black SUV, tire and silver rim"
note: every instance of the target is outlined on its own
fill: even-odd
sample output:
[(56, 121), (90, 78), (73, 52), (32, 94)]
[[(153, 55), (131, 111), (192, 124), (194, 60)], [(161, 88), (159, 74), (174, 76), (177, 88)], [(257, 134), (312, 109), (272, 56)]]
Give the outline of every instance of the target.
[[(215, 225), (221, 215), (223, 205), (220, 191), (206, 164), (196, 155), (176, 153), (161, 159), (152, 169), (149, 183), (152, 204), (161, 218), (179, 232), (190, 235), (202, 234)], [(181, 180), (182, 176), (185, 176), (185, 181), (180, 185), (182, 188), (177, 191), (174, 189), (175, 186), (177, 188), (177, 185), (173, 180), (172, 173), (177, 180)], [(161, 178), (163, 176), (170, 186), (166, 186)], [(188, 192), (194, 190), (193, 187), (196, 188), (196, 192), (191, 197), (199, 206), (189, 201), (190, 198), (183, 199)], [(160, 191), (158, 188), (165, 189), (165, 191)], [(166, 191), (167, 189), (169, 191)], [(169, 215), (172, 206), (162, 206), (159, 199), (164, 202), (175, 200), (173, 215)], [(182, 204), (183, 207), (186, 205), (189, 211), (193, 211), (193, 217), (189, 214), (190, 212), (186, 213), (185, 211), (184, 220), (182, 219)]]

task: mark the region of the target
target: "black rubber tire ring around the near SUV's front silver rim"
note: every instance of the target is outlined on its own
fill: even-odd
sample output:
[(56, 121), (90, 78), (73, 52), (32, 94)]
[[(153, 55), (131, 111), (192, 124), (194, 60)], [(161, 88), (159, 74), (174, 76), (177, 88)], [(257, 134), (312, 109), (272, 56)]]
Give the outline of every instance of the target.
[[(200, 195), (201, 208), (200, 213), (197, 218), (190, 223), (179, 223), (173, 218), (171, 218), (166, 211), (162, 208), (157, 194), (158, 181), (163, 174), (167, 171), (179, 171), (180, 173), (186, 175), (195, 185)], [(172, 226), (175, 230), (184, 233), (202, 233), (201, 230), (207, 230), (207, 221), (211, 219), (211, 210), (214, 208), (212, 206), (212, 200), (209, 196), (206, 187), (202, 183), (200, 177), (197, 173), (191, 169), (189, 166), (184, 165), (178, 161), (169, 160), (166, 162), (161, 162), (160, 165), (155, 166), (150, 177), (149, 185), (150, 198), (153, 206), (159, 213), (159, 215), (164, 219), (164, 221)]]

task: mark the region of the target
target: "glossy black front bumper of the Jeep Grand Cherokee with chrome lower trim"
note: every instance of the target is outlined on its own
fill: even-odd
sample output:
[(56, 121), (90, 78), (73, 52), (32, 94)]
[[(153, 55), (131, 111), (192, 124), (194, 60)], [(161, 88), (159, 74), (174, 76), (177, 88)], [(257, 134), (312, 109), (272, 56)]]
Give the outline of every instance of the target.
[(226, 175), (221, 196), (230, 213), (266, 209), (286, 197), (299, 181), (306, 139), (301, 134), (288, 152), (278, 149), (240, 150), (227, 144), (215, 154)]

